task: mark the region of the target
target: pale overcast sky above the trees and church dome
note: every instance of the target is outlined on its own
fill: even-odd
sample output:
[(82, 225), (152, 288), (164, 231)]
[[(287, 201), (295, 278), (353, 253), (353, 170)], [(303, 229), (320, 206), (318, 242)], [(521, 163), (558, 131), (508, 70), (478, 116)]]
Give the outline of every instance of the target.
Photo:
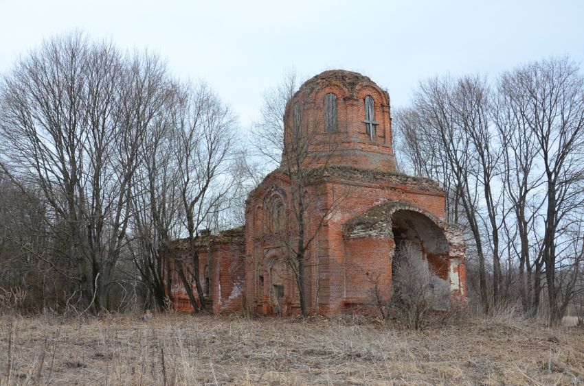
[(363, 73), (403, 106), (436, 74), (494, 75), (551, 55), (584, 61), (583, 0), (0, 0), (0, 72), (73, 29), (157, 51), (175, 75), (210, 84), (243, 129), (291, 67), (302, 77)]

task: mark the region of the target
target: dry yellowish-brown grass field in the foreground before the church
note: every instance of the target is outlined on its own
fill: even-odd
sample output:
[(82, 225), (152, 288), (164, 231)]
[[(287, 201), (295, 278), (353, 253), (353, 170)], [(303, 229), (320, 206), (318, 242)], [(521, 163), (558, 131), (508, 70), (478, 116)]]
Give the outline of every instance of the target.
[(480, 319), (0, 317), (0, 384), (584, 383), (584, 331)]

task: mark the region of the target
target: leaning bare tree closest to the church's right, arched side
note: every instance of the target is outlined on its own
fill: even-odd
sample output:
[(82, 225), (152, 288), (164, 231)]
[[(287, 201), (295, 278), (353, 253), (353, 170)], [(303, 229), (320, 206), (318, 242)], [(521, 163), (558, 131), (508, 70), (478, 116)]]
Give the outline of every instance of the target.
[[(437, 144), (429, 147), (432, 154), (427, 159), (436, 159), (439, 165), (445, 165), (446, 170), (438, 169), (434, 173), (441, 177), (451, 178), (453, 190), (451, 197), (460, 200), (460, 208), (464, 217), (456, 215), (458, 224), (463, 225), (472, 235), (472, 241), (478, 256), (478, 273), (480, 282), (480, 299), (484, 311), (488, 310), (488, 293), (486, 282), (486, 257), (482, 226), (484, 222), (480, 216), (481, 180), (479, 175), (483, 165), (478, 161), (475, 153), (475, 140), (470, 135), (469, 127), (485, 125), (484, 99), (475, 100), (475, 97), (484, 97), (481, 92), (471, 91), (470, 80), (467, 80), (465, 90), (464, 80), (456, 82), (451, 78), (434, 78), (421, 82), (414, 98), (414, 109), (419, 120), (417, 128), (421, 130), (418, 138)], [(479, 129), (480, 131), (482, 129)], [(487, 160), (489, 158), (485, 158)], [(442, 166), (444, 167), (444, 166)], [(434, 169), (436, 170), (436, 169)], [(490, 174), (488, 174), (490, 176)], [(444, 183), (443, 183), (444, 184)], [(458, 208), (458, 204), (454, 205)]]

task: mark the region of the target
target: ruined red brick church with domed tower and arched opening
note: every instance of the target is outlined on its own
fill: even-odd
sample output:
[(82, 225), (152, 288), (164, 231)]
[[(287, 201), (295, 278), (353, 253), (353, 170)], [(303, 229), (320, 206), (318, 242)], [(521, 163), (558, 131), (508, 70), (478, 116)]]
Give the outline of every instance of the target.
[[(445, 222), (440, 186), (396, 172), (388, 93), (359, 73), (325, 71), (302, 84), (287, 105), (284, 122), (300, 112), (321, 118), (313, 119), (317, 135), (308, 148), (308, 159), (321, 171), (306, 188), (313, 200), (307, 230), (315, 234), (304, 259), (308, 311), (377, 313), (371, 286), (374, 282), (379, 293), (391, 298), (392, 260), (400, 245), (416, 248), (451, 296), (464, 299), (464, 241)], [(314, 161), (331, 138), (335, 149), (325, 167)], [(200, 280), (214, 313), (300, 313), (293, 266), (271, 237), (292, 222), (291, 179), (284, 170), (269, 173), (250, 193), (245, 226), (199, 237), (205, 245), (199, 254)], [(335, 210), (323, 218), (324, 208), (332, 206)], [(189, 311), (181, 280), (176, 272), (172, 276), (175, 309)]]

